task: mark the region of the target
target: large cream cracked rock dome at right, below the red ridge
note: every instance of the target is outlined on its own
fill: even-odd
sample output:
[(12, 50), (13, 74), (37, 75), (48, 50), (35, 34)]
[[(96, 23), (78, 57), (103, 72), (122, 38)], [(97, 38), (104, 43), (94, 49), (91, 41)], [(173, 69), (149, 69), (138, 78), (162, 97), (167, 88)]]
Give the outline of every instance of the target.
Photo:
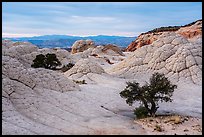
[(202, 40), (189, 42), (174, 32), (164, 32), (158, 40), (137, 49), (109, 70), (127, 78), (155, 71), (164, 73), (175, 82), (201, 84)]

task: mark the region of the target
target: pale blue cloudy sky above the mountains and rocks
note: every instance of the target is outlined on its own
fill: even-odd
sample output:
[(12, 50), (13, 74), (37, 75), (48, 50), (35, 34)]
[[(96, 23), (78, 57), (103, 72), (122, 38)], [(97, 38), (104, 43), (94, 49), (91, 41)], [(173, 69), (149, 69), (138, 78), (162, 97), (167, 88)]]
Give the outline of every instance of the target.
[(2, 36), (138, 36), (202, 19), (202, 2), (2, 2)]

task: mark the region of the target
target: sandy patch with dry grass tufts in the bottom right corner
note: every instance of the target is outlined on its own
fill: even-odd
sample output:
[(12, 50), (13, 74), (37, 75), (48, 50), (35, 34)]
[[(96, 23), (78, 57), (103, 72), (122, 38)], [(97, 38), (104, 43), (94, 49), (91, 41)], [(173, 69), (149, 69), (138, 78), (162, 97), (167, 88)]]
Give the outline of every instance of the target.
[(202, 135), (202, 119), (189, 116), (157, 116), (134, 121), (148, 135)]

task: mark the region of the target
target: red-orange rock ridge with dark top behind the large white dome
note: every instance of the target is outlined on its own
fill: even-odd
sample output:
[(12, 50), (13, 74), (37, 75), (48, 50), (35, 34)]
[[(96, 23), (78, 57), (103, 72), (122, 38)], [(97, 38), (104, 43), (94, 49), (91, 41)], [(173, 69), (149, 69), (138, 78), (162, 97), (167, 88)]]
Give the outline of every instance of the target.
[(135, 51), (136, 49), (149, 45), (156, 41), (164, 32), (175, 32), (188, 40), (202, 35), (202, 20), (195, 21), (185, 26), (161, 27), (152, 31), (140, 34), (135, 41), (130, 43), (126, 51)]

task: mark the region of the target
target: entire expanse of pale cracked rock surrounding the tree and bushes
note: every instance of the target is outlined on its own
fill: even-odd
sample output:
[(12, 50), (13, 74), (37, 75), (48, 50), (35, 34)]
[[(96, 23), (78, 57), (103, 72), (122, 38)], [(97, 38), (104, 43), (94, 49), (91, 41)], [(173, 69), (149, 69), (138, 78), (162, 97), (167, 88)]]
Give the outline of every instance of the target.
[[(202, 118), (202, 38), (186, 36), (162, 32), (124, 53), (114, 45), (71, 54), (2, 41), (2, 134), (148, 134), (133, 122), (139, 103), (128, 106), (119, 93), (127, 81), (143, 84), (153, 72), (178, 85), (173, 102), (159, 104), (158, 113)], [(76, 64), (65, 73), (31, 68), (36, 55), (47, 53)]]

